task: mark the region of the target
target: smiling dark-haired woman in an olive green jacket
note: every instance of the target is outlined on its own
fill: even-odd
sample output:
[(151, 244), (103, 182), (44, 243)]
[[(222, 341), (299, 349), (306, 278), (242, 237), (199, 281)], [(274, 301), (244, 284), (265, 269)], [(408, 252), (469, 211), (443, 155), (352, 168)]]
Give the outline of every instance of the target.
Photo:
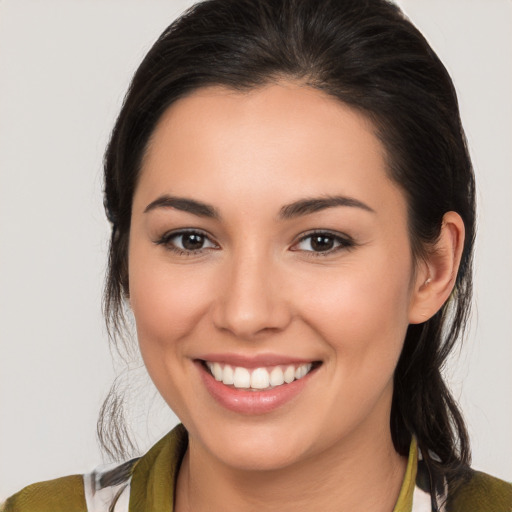
[(451, 80), (396, 7), (198, 4), (134, 77), (105, 204), (110, 325), (126, 300), (184, 426), (5, 510), (511, 508), (440, 374), (474, 182)]

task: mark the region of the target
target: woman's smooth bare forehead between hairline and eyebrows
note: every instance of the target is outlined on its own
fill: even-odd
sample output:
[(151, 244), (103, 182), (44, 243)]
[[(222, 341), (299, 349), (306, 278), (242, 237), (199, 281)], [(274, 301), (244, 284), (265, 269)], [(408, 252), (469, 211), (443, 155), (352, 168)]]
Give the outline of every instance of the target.
[(211, 202), (215, 191), (249, 204), (334, 193), (379, 202), (383, 187), (397, 189), (371, 121), (282, 82), (248, 92), (206, 87), (176, 101), (152, 135), (138, 188), (147, 199), (193, 191)]

